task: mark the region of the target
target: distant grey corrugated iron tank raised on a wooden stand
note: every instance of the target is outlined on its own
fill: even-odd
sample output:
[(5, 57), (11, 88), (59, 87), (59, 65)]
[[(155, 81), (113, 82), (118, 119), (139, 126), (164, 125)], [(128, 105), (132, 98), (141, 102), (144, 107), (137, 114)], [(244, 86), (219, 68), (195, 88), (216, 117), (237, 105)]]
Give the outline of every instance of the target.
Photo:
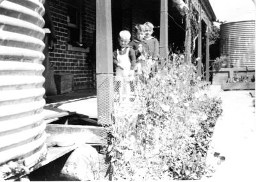
[(234, 67), (255, 68), (255, 20), (221, 24), (220, 53)]

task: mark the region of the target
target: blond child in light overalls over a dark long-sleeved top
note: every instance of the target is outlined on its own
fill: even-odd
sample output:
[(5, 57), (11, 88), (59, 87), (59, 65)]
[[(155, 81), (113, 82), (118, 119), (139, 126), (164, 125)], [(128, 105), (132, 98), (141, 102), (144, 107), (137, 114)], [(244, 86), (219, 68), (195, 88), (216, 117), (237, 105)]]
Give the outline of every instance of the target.
[(131, 95), (130, 82), (134, 76), (134, 66), (136, 56), (134, 50), (129, 46), (131, 33), (120, 31), (119, 47), (113, 52), (113, 63), (116, 67), (116, 84), (120, 86), (120, 96), (122, 99), (129, 99)]

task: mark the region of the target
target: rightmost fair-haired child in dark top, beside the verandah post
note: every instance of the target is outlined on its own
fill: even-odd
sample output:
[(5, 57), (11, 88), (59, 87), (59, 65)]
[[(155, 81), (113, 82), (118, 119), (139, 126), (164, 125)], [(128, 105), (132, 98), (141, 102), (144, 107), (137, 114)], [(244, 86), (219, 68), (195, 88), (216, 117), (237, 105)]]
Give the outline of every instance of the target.
[(145, 42), (148, 44), (150, 56), (152, 56), (153, 60), (157, 60), (159, 58), (159, 43), (156, 38), (152, 36), (154, 32), (154, 26), (150, 22), (145, 22)]

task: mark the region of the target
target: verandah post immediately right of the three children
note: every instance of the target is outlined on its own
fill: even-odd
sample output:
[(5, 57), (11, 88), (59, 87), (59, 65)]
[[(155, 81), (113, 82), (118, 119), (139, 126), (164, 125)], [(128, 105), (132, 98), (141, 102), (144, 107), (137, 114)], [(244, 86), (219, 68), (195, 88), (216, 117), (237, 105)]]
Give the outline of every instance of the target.
[(163, 65), (164, 60), (168, 59), (168, 0), (161, 0), (159, 52)]

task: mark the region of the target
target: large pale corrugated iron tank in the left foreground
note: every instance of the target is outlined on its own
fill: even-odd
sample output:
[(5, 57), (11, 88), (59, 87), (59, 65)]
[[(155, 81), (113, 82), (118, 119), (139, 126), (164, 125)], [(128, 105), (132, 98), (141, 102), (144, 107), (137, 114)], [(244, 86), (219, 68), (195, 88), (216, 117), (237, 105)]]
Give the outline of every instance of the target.
[(45, 105), (44, 0), (0, 4), (0, 181), (24, 172), (47, 152)]

